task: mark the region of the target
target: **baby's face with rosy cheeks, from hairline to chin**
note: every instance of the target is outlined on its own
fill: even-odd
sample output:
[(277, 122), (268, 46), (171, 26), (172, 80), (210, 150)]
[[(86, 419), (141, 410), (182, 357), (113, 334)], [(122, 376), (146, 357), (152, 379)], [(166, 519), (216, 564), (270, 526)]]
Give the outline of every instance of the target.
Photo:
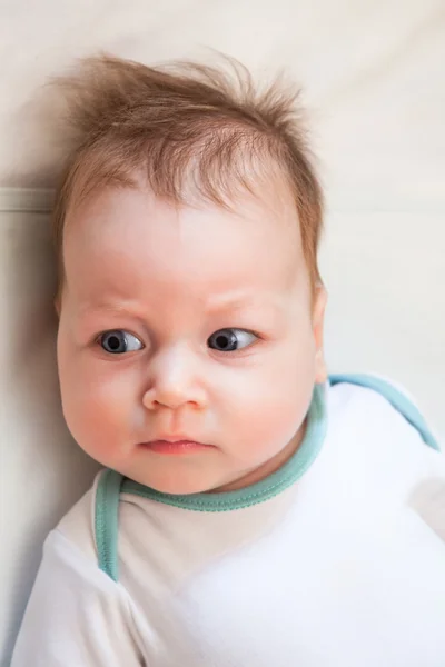
[(71, 213), (58, 361), (68, 427), (91, 457), (190, 494), (247, 486), (295, 451), (325, 379), (325, 296), (312, 302), (278, 195), (234, 213), (116, 189)]

